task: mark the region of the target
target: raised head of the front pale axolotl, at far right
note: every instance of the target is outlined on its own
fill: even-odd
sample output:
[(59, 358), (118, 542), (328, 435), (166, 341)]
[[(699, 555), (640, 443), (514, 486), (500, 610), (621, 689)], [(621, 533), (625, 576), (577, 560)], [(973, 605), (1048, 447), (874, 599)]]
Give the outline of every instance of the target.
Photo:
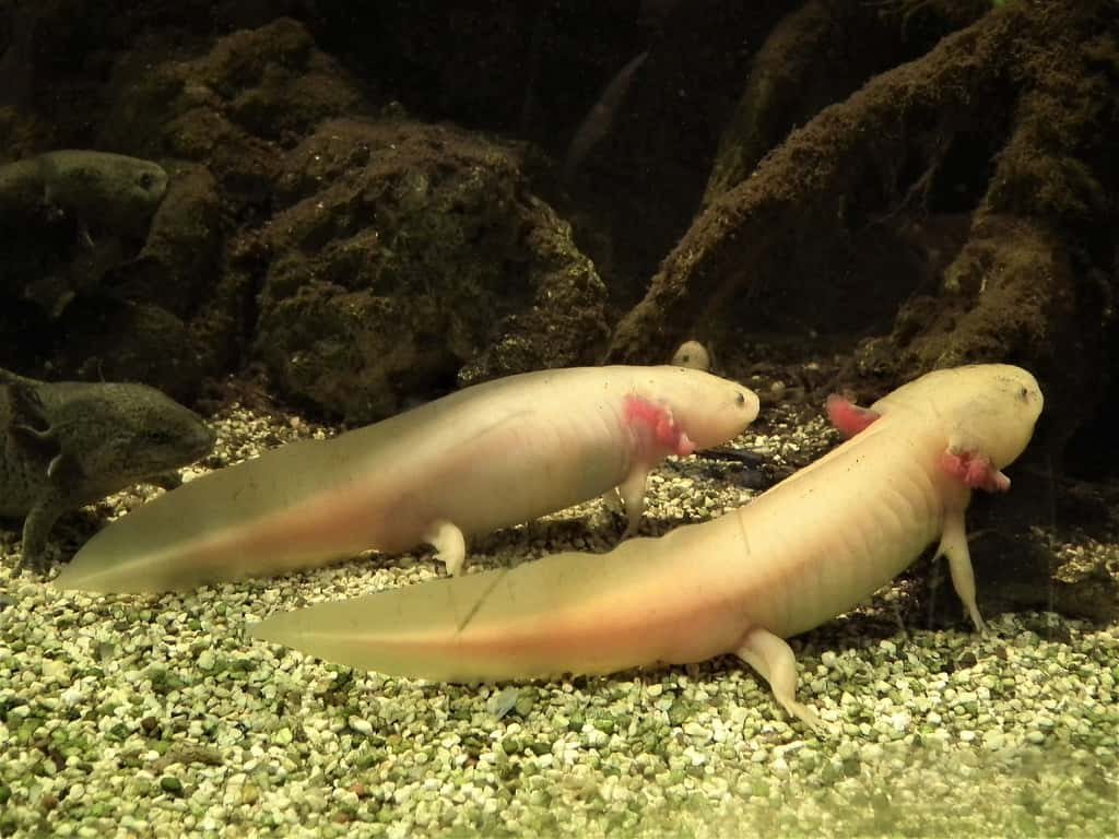
[(914, 413), (940, 422), (952, 451), (981, 452), (996, 469), (1029, 443), (1044, 398), (1037, 379), (1014, 365), (934, 370), (878, 399), (872, 411)]

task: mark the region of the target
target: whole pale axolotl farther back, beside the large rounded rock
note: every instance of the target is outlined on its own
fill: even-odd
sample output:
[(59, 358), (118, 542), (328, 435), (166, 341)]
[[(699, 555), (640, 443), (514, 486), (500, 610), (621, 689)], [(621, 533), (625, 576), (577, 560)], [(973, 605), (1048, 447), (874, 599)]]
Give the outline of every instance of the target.
[(421, 543), (455, 574), (466, 536), (615, 487), (632, 531), (657, 463), (724, 443), (756, 416), (753, 392), (681, 367), (509, 376), (203, 475), (102, 530), (56, 585), (164, 591)]

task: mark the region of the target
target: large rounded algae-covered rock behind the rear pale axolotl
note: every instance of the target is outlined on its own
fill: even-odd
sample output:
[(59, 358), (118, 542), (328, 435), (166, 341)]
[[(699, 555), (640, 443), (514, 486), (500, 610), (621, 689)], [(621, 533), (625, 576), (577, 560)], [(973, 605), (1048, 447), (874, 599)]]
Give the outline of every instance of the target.
[(254, 351), (289, 396), (369, 422), (604, 341), (603, 284), (515, 149), (339, 120), (283, 169)]

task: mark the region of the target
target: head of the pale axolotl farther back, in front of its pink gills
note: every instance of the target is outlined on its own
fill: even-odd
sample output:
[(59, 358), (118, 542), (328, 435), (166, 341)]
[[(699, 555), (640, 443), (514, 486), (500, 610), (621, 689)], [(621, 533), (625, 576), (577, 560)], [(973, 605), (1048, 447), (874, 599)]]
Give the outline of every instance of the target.
[(673, 427), (690, 443), (687, 449), (726, 443), (758, 417), (758, 394), (703, 370), (652, 367), (637, 384), (642, 404), (667, 408)]

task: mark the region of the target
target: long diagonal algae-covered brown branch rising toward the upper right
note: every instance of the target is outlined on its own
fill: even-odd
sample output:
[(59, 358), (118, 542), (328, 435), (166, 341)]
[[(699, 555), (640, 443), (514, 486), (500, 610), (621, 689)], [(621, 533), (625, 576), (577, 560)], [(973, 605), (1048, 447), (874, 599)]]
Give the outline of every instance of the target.
[[(991, 86), (1008, 87), (1008, 47), (1028, 18), (995, 12), (944, 38), (923, 58), (872, 79), (767, 157), (693, 224), (619, 324), (608, 359), (664, 357), (743, 289), (780, 283), (803, 243), (847, 243), (849, 226), (899, 199), (882, 183), (914, 148), (935, 148), (955, 125), (987, 124)], [(995, 101), (1009, 100), (1006, 95)]]

